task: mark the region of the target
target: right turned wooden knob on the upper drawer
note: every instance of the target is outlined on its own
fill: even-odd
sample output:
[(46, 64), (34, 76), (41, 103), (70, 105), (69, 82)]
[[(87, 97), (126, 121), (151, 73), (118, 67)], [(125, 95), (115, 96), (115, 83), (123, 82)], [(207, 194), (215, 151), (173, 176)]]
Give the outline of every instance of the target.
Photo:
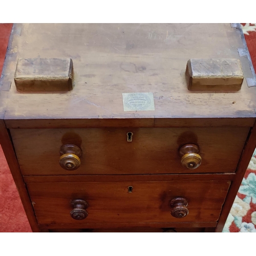
[(181, 165), (188, 169), (196, 169), (200, 166), (202, 158), (199, 155), (199, 147), (196, 144), (185, 144), (180, 148)]

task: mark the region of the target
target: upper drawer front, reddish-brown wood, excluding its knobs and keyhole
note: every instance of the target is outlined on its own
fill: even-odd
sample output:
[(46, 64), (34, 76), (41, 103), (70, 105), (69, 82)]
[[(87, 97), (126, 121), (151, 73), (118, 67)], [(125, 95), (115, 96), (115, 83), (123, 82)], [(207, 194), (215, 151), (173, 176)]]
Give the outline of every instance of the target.
[[(248, 132), (248, 127), (13, 129), (11, 135), (23, 175), (182, 174), (235, 172)], [(188, 143), (199, 146), (198, 168), (181, 165), (179, 148)], [(81, 149), (80, 166), (72, 171), (59, 164), (60, 147), (67, 144)]]

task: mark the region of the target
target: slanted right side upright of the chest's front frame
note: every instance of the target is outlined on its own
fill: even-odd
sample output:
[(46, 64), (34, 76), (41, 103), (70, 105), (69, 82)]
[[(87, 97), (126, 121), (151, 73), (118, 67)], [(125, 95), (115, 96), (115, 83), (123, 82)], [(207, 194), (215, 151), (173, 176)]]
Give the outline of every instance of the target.
[(229, 187), (228, 194), (227, 194), (225, 203), (223, 204), (221, 215), (220, 215), (215, 232), (222, 232), (223, 230), (228, 214), (233, 205), (234, 199), (237, 196), (239, 187), (242, 183), (242, 180), (244, 178), (246, 169), (250, 163), (255, 147), (256, 147), (256, 123), (251, 128), (250, 134), (248, 135), (247, 142), (245, 143), (245, 147), (238, 164), (236, 177), (234, 177), (234, 180), (231, 182), (231, 185)]

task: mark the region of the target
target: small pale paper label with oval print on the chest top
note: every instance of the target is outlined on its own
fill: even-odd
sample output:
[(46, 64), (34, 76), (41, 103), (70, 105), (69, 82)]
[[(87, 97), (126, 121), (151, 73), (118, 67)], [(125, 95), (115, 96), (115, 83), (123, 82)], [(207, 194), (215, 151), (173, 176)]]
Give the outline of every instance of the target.
[(123, 111), (155, 110), (153, 93), (123, 93)]

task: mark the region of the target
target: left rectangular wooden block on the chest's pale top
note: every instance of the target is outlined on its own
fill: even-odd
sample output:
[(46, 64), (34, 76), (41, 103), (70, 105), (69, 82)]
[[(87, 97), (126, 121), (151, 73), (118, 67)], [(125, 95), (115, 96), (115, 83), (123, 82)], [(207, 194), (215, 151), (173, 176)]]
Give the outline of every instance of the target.
[(17, 91), (63, 92), (73, 89), (73, 61), (63, 58), (19, 58), (14, 75)]

